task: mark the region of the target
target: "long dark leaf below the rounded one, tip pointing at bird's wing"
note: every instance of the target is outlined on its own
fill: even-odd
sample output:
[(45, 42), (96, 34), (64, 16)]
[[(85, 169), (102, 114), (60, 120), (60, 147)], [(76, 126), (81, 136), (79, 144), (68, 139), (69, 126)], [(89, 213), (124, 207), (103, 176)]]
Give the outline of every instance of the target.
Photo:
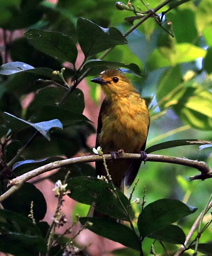
[(63, 125), (70, 125), (79, 121), (89, 121), (86, 116), (59, 106), (34, 106), (29, 111), (29, 116), (32, 113), (30, 120), (35, 122), (60, 118)]

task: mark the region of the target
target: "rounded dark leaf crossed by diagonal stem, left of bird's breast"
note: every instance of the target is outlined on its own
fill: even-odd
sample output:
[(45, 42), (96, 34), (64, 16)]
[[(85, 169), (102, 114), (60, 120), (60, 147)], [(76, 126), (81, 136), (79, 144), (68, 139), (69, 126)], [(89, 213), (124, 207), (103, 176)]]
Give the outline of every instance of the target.
[[(58, 102), (63, 97), (64, 92), (65, 90), (63, 88), (52, 86), (39, 90), (35, 95), (34, 100), (29, 105), (29, 110), (26, 112), (26, 119), (29, 119), (30, 115), (32, 115), (30, 108), (34, 106), (57, 106)], [(60, 104), (60, 107), (82, 114), (85, 107), (83, 92), (76, 88), (69, 94), (66, 100)]]

